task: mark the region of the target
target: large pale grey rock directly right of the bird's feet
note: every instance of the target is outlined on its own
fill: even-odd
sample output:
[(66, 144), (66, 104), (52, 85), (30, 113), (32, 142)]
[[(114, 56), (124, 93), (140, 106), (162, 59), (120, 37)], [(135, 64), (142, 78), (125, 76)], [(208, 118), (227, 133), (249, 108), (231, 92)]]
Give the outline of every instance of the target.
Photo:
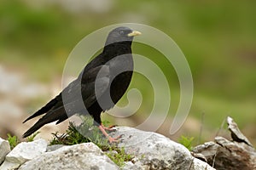
[[(159, 133), (117, 127), (112, 135), (122, 135), (122, 142), (118, 146), (124, 147), (127, 154), (135, 156), (137, 160), (134, 165), (143, 169), (214, 169), (206, 162), (191, 156), (182, 144), (177, 144)], [(129, 166), (132, 167), (131, 164)]]

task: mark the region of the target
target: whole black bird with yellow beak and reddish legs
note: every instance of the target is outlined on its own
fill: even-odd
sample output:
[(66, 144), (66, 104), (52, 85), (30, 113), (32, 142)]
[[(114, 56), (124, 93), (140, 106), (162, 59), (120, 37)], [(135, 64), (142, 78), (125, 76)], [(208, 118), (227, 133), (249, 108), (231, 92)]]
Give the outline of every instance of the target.
[(26, 138), (49, 122), (58, 124), (79, 113), (90, 114), (109, 142), (116, 141), (106, 133), (108, 127), (102, 126), (101, 113), (119, 101), (131, 82), (131, 42), (140, 34), (124, 26), (110, 31), (102, 53), (92, 59), (61, 94), (24, 121), (44, 114), (22, 137)]

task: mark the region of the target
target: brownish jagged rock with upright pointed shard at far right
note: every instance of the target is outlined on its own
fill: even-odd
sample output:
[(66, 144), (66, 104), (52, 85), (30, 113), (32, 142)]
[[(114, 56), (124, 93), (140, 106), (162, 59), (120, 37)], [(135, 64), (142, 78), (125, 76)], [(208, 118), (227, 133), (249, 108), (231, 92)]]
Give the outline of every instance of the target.
[(227, 123), (233, 140), (217, 136), (214, 142), (196, 146), (194, 155), (200, 154), (218, 170), (256, 169), (256, 150), (231, 117), (227, 118)]

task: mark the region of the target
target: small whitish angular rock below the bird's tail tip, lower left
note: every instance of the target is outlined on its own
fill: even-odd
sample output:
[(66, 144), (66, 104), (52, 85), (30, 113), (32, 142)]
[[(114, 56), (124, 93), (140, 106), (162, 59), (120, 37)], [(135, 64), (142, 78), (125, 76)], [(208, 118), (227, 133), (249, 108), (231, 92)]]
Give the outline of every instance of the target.
[(37, 139), (32, 142), (21, 142), (5, 157), (5, 161), (0, 169), (14, 169), (14, 167), (19, 167), (25, 161), (40, 156), (45, 152), (46, 147), (47, 141), (44, 139)]

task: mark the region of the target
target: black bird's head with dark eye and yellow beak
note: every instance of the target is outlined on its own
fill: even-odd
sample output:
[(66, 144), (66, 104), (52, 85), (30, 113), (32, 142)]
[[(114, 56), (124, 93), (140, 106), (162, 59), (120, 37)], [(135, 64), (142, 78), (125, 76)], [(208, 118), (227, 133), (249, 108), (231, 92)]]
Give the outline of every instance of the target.
[(141, 35), (141, 32), (133, 31), (125, 26), (120, 26), (109, 32), (106, 45), (115, 42), (132, 42), (133, 37), (138, 35)]

